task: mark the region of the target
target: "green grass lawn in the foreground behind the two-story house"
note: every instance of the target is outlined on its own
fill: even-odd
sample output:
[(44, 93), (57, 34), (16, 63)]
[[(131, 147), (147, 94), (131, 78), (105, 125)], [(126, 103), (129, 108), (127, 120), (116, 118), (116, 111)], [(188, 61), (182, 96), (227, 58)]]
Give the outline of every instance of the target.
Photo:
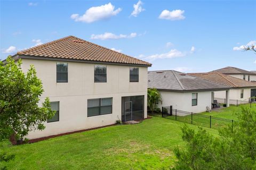
[[(169, 169), (175, 162), (173, 149), (185, 145), (180, 130), (183, 124), (154, 116), (139, 124), (0, 147), (15, 154), (13, 161), (4, 164), (9, 169)], [(206, 130), (218, 135), (216, 130)]]

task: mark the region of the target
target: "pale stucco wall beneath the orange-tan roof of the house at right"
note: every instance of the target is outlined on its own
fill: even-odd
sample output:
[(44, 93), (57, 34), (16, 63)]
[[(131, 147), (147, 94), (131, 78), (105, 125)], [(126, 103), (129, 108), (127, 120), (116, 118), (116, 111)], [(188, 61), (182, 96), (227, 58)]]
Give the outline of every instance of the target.
[[(230, 96), (230, 104), (236, 105), (236, 101), (233, 100), (244, 100), (248, 101), (251, 97), (251, 89), (250, 88), (244, 88), (244, 96), (241, 98), (241, 89), (230, 89), (229, 90), (229, 96)], [(226, 98), (226, 91), (216, 91), (214, 92), (215, 98)], [(219, 103), (224, 103), (224, 100), (218, 100)]]

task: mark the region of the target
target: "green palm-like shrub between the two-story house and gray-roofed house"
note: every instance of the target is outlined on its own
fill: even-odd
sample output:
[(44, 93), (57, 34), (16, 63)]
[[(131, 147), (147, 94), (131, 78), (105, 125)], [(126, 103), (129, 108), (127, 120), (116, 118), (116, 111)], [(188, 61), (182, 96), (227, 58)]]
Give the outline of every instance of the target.
[(148, 89), (148, 107), (151, 113), (155, 111), (158, 102), (162, 102), (159, 91), (155, 88)]

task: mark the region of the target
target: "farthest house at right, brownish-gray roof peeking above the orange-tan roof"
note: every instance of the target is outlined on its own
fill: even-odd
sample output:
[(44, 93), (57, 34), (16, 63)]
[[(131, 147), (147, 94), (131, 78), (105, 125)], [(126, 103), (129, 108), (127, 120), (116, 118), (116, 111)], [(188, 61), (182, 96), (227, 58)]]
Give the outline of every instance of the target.
[(256, 73), (251, 71), (246, 71), (243, 69), (238, 69), (236, 67), (225, 67), (222, 69), (214, 70), (211, 72), (218, 72), (226, 75), (230, 75), (234, 78), (247, 80), (247, 81), (256, 81)]

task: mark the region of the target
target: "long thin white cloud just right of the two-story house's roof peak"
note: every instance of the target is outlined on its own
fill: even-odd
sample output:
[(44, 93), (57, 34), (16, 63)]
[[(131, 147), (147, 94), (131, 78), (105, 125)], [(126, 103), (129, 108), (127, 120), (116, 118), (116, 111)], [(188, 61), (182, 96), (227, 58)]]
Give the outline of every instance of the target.
[(114, 33), (111, 32), (105, 32), (103, 34), (99, 35), (91, 35), (91, 39), (101, 39), (101, 40), (106, 40), (106, 39), (121, 39), (121, 38), (134, 38), (137, 36), (137, 33), (133, 32), (130, 35), (115, 35)]

